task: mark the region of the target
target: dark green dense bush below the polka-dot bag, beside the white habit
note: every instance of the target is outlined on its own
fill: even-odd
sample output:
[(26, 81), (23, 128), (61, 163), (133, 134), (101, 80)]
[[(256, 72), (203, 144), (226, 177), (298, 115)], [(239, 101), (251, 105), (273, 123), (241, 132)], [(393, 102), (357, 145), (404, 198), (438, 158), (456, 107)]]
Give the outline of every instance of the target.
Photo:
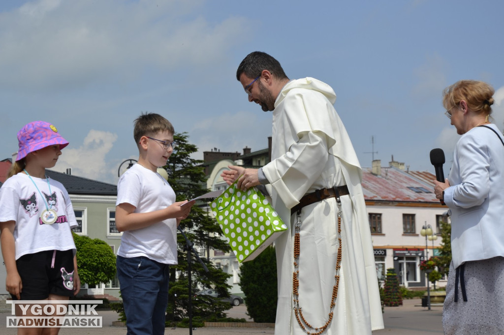
[(240, 267), (240, 287), (245, 294), (247, 314), (255, 322), (275, 322), (277, 312), (277, 259), (268, 246)]

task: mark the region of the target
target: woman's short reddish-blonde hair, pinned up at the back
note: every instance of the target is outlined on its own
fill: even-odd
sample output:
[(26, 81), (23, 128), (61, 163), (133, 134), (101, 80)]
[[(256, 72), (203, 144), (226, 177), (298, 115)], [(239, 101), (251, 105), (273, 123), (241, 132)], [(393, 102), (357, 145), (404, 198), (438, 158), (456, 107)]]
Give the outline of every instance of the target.
[(464, 100), (471, 111), (490, 115), (493, 93), (493, 88), (486, 82), (459, 80), (443, 91), (443, 106), (449, 110)]

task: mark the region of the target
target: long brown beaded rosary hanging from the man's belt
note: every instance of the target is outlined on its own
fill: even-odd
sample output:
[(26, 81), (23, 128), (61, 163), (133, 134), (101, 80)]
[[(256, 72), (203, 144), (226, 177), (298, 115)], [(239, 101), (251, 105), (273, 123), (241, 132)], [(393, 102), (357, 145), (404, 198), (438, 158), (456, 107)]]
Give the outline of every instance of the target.
[[(303, 330), (309, 335), (320, 335), (326, 331), (327, 327), (333, 320), (333, 310), (336, 306), (336, 298), (338, 297), (338, 286), (340, 283), (340, 269), (341, 269), (341, 201), (339, 198), (336, 200), (338, 204), (338, 255), (336, 258), (336, 275), (335, 284), (333, 286), (333, 295), (331, 299), (329, 319), (326, 324), (322, 327), (313, 327), (309, 324), (303, 316), (302, 308), (299, 306), (299, 254), (300, 254), (300, 237), (299, 231), (301, 230), (301, 219), (300, 213), (297, 213), (297, 222), (295, 224), (295, 235), (294, 235), (294, 272), (292, 275), (292, 295), (294, 298), (294, 313), (296, 315), (297, 323), (303, 328)], [(308, 328), (308, 329), (306, 329)], [(313, 332), (312, 332), (313, 331)]]

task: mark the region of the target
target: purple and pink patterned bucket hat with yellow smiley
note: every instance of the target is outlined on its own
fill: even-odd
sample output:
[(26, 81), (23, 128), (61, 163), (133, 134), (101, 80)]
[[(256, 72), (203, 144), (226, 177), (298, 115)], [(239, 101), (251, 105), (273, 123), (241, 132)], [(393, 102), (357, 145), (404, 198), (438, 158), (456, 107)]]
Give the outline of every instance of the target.
[(68, 145), (68, 141), (59, 135), (52, 124), (44, 121), (30, 122), (18, 131), (19, 150), (16, 161), (27, 154), (46, 146), (59, 144), (59, 149)]

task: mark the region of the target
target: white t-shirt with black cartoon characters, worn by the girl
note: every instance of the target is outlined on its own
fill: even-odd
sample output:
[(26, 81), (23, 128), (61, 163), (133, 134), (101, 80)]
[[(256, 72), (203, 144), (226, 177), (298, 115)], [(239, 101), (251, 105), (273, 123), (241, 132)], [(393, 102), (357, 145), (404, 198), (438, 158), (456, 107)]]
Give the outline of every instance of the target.
[[(70, 229), (77, 226), (77, 221), (67, 190), (50, 178), (50, 191), (46, 179), (33, 176), (31, 179), (33, 182), (24, 173), (19, 173), (0, 188), (0, 221), (16, 221), (16, 260), (45, 250), (73, 249), (75, 255)], [(40, 219), (46, 206), (57, 213), (53, 224), (44, 224)]]

